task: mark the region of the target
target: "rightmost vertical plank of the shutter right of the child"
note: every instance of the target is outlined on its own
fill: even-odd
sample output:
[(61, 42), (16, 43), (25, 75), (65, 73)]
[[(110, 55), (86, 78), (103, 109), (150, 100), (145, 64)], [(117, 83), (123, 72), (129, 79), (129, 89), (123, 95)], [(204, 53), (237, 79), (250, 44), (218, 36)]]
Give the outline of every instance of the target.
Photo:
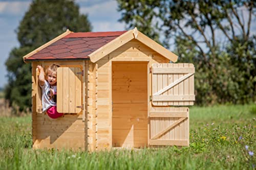
[(81, 111), (81, 108), (78, 108), (77, 106), (81, 106), (81, 75), (77, 74), (81, 72), (81, 69), (76, 67), (75, 68), (75, 113), (79, 113)]

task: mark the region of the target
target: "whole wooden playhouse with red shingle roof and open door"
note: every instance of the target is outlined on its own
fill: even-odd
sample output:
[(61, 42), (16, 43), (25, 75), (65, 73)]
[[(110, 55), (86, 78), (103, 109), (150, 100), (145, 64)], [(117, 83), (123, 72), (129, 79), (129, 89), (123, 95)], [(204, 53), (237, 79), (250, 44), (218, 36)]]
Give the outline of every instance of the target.
[[(136, 28), (67, 30), (24, 56), (32, 64), (33, 148), (104, 150), (189, 145), (195, 67)], [(37, 65), (56, 64), (57, 110), (42, 113)]]

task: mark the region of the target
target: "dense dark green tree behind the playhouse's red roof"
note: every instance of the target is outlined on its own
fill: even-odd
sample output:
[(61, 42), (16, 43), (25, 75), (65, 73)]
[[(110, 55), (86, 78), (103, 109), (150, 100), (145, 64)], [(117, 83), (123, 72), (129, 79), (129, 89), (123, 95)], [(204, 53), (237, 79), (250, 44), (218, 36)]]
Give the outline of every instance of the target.
[(5, 98), (20, 110), (31, 106), (31, 64), (23, 56), (38, 46), (62, 34), (91, 31), (87, 15), (79, 14), (79, 7), (69, 0), (34, 0), (17, 29), (19, 47), (14, 47), (6, 61), (8, 85)]

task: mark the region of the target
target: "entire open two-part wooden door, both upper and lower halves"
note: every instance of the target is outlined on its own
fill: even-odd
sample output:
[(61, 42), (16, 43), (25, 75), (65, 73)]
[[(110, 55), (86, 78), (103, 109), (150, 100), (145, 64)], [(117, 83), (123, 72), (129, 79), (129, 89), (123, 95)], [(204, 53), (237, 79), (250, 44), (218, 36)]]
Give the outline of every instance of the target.
[(193, 64), (152, 65), (150, 145), (189, 145), (188, 108), (161, 106), (194, 105), (194, 74)]

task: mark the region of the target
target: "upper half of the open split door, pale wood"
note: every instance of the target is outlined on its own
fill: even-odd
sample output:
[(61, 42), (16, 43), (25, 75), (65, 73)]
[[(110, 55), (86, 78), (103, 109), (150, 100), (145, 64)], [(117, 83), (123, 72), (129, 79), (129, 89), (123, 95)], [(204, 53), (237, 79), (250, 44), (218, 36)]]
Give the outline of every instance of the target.
[(155, 106), (194, 105), (195, 67), (189, 63), (152, 65), (152, 104)]

